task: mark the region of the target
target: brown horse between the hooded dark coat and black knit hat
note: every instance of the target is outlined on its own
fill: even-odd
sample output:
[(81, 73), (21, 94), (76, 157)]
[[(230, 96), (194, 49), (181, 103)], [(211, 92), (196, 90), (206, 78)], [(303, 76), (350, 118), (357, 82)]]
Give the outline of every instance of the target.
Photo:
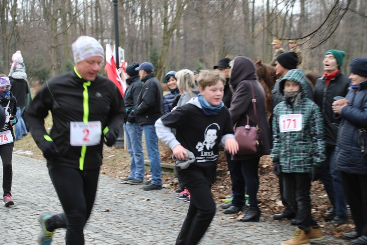
[(272, 111), (272, 90), (278, 76), (275, 74), (275, 68), (271, 65), (262, 63), (262, 60), (253, 61), (256, 67), (256, 73), (259, 77), (259, 82), (265, 90), (265, 105), (268, 112)]

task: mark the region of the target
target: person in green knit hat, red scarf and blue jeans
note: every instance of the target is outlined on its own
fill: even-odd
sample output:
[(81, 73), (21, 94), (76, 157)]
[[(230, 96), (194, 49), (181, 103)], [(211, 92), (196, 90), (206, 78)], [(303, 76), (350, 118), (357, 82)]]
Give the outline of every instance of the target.
[(344, 224), (348, 221), (346, 201), (343, 194), (341, 173), (334, 169), (336, 136), (341, 119), (334, 117), (331, 105), (335, 97), (345, 97), (349, 79), (341, 71), (345, 52), (331, 49), (325, 52), (322, 61), (324, 71), (315, 84), (314, 101), (320, 106), (325, 127), (326, 160), (322, 164), (322, 182), (329, 196), (331, 206), (324, 214), (325, 221), (331, 224)]

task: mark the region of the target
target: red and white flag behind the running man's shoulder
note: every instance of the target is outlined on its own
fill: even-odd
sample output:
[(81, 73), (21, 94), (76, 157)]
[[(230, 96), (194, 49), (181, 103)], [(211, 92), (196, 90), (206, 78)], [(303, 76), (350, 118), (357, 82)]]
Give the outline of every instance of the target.
[[(115, 48), (115, 46), (114, 46), (114, 48)], [(124, 69), (121, 69), (121, 70), (124, 71)], [(125, 90), (126, 90), (125, 75), (122, 74), (123, 78), (121, 79), (119, 71), (117, 71), (117, 67), (116, 67), (116, 55), (115, 55), (115, 52), (112, 51), (110, 44), (106, 45), (106, 66), (105, 66), (105, 71), (107, 72), (108, 78), (116, 84), (116, 86), (117, 86), (118, 90), (120, 91), (122, 97), (124, 97)]]

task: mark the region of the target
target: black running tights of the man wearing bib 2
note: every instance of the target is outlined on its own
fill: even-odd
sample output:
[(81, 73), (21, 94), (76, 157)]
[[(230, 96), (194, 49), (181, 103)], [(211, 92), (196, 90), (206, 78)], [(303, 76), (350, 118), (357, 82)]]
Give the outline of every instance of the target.
[(47, 230), (66, 228), (66, 244), (83, 245), (83, 229), (92, 212), (99, 169), (80, 171), (62, 166), (47, 167), (64, 210), (64, 214), (54, 215), (46, 221)]

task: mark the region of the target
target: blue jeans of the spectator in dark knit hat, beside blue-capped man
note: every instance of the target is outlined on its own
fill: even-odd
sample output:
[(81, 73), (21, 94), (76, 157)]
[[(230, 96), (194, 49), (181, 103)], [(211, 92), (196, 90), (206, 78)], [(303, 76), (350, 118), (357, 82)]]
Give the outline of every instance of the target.
[(124, 123), (126, 133), (127, 151), (130, 153), (130, 171), (129, 178), (144, 180), (144, 153), (141, 144), (141, 135), (143, 128), (137, 123)]

